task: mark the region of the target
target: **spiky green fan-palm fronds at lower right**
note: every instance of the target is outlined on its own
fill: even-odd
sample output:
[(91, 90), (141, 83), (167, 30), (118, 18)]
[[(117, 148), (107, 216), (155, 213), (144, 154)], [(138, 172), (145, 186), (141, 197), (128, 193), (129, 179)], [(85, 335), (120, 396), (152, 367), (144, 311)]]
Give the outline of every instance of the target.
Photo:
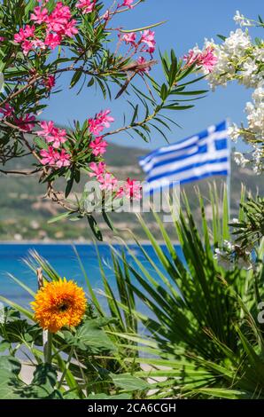
[[(179, 257), (171, 235), (155, 216), (166, 251), (160, 247), (151, 230), (138, 216), (146, 238), (159, 259), (152, 260), (136, 241), (140, 256), (128, 246), (136, 267), (116, 252), (120, 271), (129, 271), (129, 283), (135, 296), (147, 311), (133, 311), (142, 322), (148, 337), (119, 334), (132, 349), (142, 350), (141, 363), (153, 366), (138, 376), (163, 377), (157, 383), (154, 397), (226, 397), (263, 398), (263, 324), (259, 321), (258, 304), (263, 300), (263, 244), (258, 249), (259, 268), (255, 271), (226, 271), (214, 259), (214, 248), (221, 246), (223, 231), (228, 226), (226, 193), (224, 201), (212, 190), (213, 221), (206, 220), (204, 201), (199, 195), (201, 224), (194, 222), (189, 204), (183, 196), (184, 209), (174, 217), (176, 239), (180, 242), (184, 261)], [(217, 209), (223, 209), (223, 224)], [(214, 247), (212, 248), (212, 242)], [(151, 264), (155, 277), (144, 264)], [(127, 311), (127, 303), (120, 303)], [(142, 332), (141, 332), (142, 333)], [(139, 343), (135, 346), (135, 342)], [(133, 345), (131, 344), (133, 343)], [(146, 356), (149, 355), (149, 358)], [(155, 358), (156, 357), (156, 358)], [(166, 366), (166, 370), (163, 367)]]

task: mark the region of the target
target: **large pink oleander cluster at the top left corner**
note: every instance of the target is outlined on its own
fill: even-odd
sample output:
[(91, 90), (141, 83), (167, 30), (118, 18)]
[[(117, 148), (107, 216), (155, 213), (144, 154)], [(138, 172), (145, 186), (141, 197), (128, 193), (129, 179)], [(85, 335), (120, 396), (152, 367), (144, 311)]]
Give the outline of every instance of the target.
[(36, 25), (42, 25), (44, 33), (43, 38), (40, 39), (35, 35), (35, 25), (26, 25), (25, 28), (19, 29), (19, 33), (14, 35), (14, 41), (21, 43), (25, 55), (36, 48), (46, 49), (50, 47), (53, 50), (62, 42), (64, 37), (73, 37), (78, 33), (78, 29), (75, 27), (76, 20), (72, 19), (70, 8), (62, 2), (56, 4), (50, 14), (46, 7), (35, 7), (34, 13), (31, 14), (31, 20)]

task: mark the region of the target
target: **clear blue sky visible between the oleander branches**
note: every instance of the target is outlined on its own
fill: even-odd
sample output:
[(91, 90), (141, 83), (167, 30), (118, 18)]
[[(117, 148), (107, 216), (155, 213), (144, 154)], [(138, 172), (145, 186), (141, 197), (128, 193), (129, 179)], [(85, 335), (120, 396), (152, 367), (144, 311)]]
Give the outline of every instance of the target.
[[(112, 2), (105, 1), (105, 4)], [(236, 10), (239, 10), (246, 17), (256, 19), (258, 14), (263, 14), (260, 7), (260, 0), (221, 0), (219, 2), (209, 0), (146, 0), (144, 4), (136, 7), (131, 12), (126, 12), (116, 20), (116, 26), (133, 29), (141, 28), (148, 24), (167, 20), (167, 23), (156, 28), (156, 39), (161, 51), (175, 49), (178, 57), (188, 51), (196, 43), (202, 46), (204, 38), (216, 35), (229, 35), (230, 30), (235, 30), (237, 25), (233, 21)], [(256, 29), (253, 35), (258, 35)], [(261, 35), (261, 33), (259, 32)], [(152, 71), (159, 81), (160, 69), (157, 67)], [(76, 90), (68, 90), (66, 86), (69, 76), (60, 78), (58, 86), (63, 88), (59, 94), (50, 99), (50, 106), (42, 114), (42, 118), (53, 120), (60, 124), (72, 124), (74, 120), (83, 121), (101, 109), (111, 108), (116, 119), (115, 127), (122, 124), (122, 114), (128, 109), (125, 102), (125, 95), (113, 102), (105, 101), (101, 94), (92, 89), (84, 89), (76, 97)], [(194, 84), (195, 89), (206, 87), (205, 83)], [(209, 91), (206, 98), (198, 100), (193, 109), (181, 112), (170, 112), (175, 122), (178, 122), (182, 129), (174, 128), (169, 133), (168, 140), (173, 143), (191, 134), (204, 130), (207, 126), (221, 122), (229, 117), (232, 122), (245, 120), (245, 102), (251, 98), (251, 90), (235, 83), (229, 84), (227, 88), (219, 87), (215, 92)], [(150, 144), (144, 144), (141, 138), (129, 138), (127, 135), (120, 135), (110, 138), (113, 142), (122, 146), (136, 146), (144, 148), (157, 148), (165, 144), (165, 139), (156, 132), (153, 133)]]

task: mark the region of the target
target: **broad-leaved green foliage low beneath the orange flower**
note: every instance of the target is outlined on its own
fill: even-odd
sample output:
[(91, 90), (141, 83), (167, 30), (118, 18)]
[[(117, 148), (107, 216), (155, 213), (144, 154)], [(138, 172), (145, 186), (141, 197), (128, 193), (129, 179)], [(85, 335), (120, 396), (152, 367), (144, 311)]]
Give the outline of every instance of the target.
[[(7, 310), (7, 313), (10, 312), (14, 313)], [(16, 321), (19, 322), (19, 319)], [(137, 391), (149, 388), (144, 380), (123, 373), (123, 367), (117, 366), (120, 363), (117, 356), (118, 345), (103, 330), (103, 327), (114, 322), (113, 319), (84, 319), (75, 331), (64, 330), (53, 336), (52, 365), (43, 363), (43, 351), (38, 349), (43, 344), (39, 327), (35, 328), (37, 338), (30, 338), (27, 335), (31, 333), (22, 325), (18, 331), (16, 321), (12, 321), (12, 334), (15, 335), (12, 340), (9, 338), (10, 327), (7, 323), (1, 325), (1, 336), (7, 336), (2, 345), (4, 350), (9, 350), (10, 355), (0, 357), (1, 399), (89, 398), (97, 397), (97, 394), (99, 397), (119, 397), (119, 392), (120, 397), (129, 397), (129, 392), (136, 395)], [(25, 320), (20, 321), (24, 325)], [(15, 347), (11, 343), (15, 343)], [(31, 363), (28, 361), (27, 366), (35, 368), (30, 384), (23, 382), (20, 376), (21, 364), (15, 355), (21, 348), (26, 348), (28, 354), (34, 357), (32, 359), (28, 356)], [(60, 352), (64, 352), (67, 359), (62, 359)], [(62, 374), (58, 377), (59, 371)]]

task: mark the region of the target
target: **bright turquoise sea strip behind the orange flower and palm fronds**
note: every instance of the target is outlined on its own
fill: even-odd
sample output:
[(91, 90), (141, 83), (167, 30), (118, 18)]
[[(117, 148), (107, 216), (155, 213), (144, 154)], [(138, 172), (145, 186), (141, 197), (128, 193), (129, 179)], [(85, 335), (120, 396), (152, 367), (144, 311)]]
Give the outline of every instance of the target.
[[(82, 259), (82, 264), (84, 265), (92, 287), (97, 291), (98, 298), (101, 303), (104, 304), (105, 297), (102, 295), (103, 284), (98, 265), (96, 247), (92, 244), (77, 244), (74, 247)], [(97, 248), (100, 259), (105, 267), (105, 275), (109, 283), (113, 285), (114, 291), (114, 274), (110, 248), (107, 244), (99, 244)], [(124, 248), (119, 245), (114, 245), (114, 248), (119, 251), (124, 250)], [(141, 262), (144, 263), (144, 266), (148, 269), (148, 271), (151, 271), (152, 276), (159, 279), (156, 272), (153, 271), (151, 265), (144, 259), (144, 256), (141, 254), (139, 248), (137, 248), (136, 245), (129, 245), (129, 248), (132, 249), (133, 254), (138, 256)], [(151, 245), (144, 245), (144, 249), (151, 256), (151, 259), (154, 260), (156, 264), (159, 264), (159, 260), (155, 255), (153, 248), (151, 248)], [(165, 253), (167, 252), (165, 247), (162, 247), (162, 249)], [(31, 287), (34, 290), (37, 289), (35, 273), (30, 271), (27, 265), (23, 263), (23, 259), (28, 257), (30, 250), (37, 251), (39, 255), (49, 261), (51, 266), (58, 271), (60, 276), (66, 277), (67, 279), (74, 279), (79, 285), (84, 288), (86, 287), (85, 279), (78, 260), (74, 254), (74, 248), (72, 245), (3, 243), (0, 244), (0, 295), (23, 305), (32, 301), (27, 292), (8, 278), (8, 273), (10, 273), (16, 278), (22, 280), (28, 287)], [(132, 256), (128, 255), (127, 250), (125, 250), (125, 252), (127, 252), (129, 263), (135, 266)], [(177, 248), (177, 252), (179, 256), (182, 256), (180, 248)]]

